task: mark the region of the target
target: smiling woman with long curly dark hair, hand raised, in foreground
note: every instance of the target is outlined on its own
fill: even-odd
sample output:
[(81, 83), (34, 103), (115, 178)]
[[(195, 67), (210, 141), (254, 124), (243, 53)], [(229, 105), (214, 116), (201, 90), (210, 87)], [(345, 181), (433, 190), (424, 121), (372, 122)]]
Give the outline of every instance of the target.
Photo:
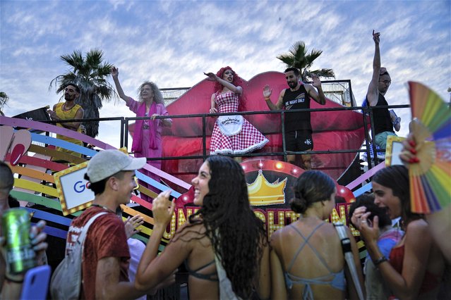
[[(192, 180), (200, 209), (177, 230), (157, 256), (172, 218), (169, 192), (153, 202), (155, 225), (136, 274), (136, 287), (148, 290), (185, 262), (190, 299), (249, 299), (270, 296), (269, 245), (265, 225), (255, 216), (239, 163), (211, 156)], [(173, 207), (173, 206), (172, 206)]]

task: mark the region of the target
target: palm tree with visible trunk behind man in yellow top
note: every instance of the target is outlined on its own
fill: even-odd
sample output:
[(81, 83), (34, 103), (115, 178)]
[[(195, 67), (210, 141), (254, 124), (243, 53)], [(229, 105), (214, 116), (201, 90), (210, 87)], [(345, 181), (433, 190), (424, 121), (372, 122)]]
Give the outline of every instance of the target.
[[(102, 101), (117, 99), (114, 87), (107, 81), (112, 64), (103, 62), (103, 51), (92, 49), (83, 57), (80, 50), (73, 51), (72, 54), (60, 56), (61, 61), (70, 65), (72, 70), (64, 75), (56, 76), (50, 82), (56, 89), (56, 94), (63, 91), (66, 85), (73, 83), (80, 88), (80, 96), (76, 99), (76, 104), (83, 107), (85, 115), (83, 118), (99, 118), (99, 110), (102, 108)], [(63, 99), (64, 96), (61, 96)], [(61, 100), (60, 99), (60, 100)], [(86, 135), (97, 137), (99, 134), (99, 121), (83, 122), (86, 128)]]

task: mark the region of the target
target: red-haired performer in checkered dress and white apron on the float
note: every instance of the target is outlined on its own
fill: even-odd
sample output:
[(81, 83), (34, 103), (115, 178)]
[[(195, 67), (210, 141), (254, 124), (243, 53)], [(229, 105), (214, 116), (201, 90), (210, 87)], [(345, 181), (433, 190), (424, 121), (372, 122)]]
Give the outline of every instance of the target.
[[(243, 80), (230, 67), (204, 73), (215, 82), (210, 113), (246, 111)], [(220, 115), (213, 127), (210, 154), (245, 154), (263, 148), (269, 142), (243, 115)]]

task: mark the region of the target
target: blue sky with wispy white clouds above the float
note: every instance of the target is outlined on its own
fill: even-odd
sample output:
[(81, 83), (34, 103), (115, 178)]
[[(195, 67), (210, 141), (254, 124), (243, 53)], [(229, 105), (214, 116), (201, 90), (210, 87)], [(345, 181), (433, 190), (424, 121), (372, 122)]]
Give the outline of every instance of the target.
[[(315, 68), (332, 68), (351, 80), (358, 104), (371, 80), (380, 31), (382, 65), (392, 76), (389, 104), (409, 104), (406, 82), (420, 81), (450, 101), (451, 1), (0, 1), (0, 91), (16, 115), (49, 104), (49, 90), (68, 71), (59, 56), (102, 49), (119, 67), (126, 94), (144, 80), (162, 87), (191, 87), (230, 65), (246, 80), (284, 70), (276, 56), (296, 41), (323, 50)], [(112, 82), (111, 77), (109, 81)], [(113, 82), (112, 82), (113, 83)], [(205, 99), (210, 101), (210, 99)], [(406, 135), (408, 109), (398, 109)], [(101, 117), (134, 114), (118, 101)], [(104, 142), (119, 146), (115, 128), (100, 127)]]

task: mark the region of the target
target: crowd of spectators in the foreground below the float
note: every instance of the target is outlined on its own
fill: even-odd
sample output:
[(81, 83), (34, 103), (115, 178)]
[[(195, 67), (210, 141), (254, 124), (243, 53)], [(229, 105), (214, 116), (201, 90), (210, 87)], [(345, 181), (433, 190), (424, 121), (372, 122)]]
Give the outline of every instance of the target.
[[(346, 230), (353, 258), (349, 262), (335, 225), (324, 221), (335, 206), (337, 187), (332, 178), (317, 170), (302, 173), (292, 187), (290, 201), (291, 209), (301, 216), (268, 241), (264, 223), (249, 204), (241, 165), (226, 156), (210, 156), (200, 167), (192, 180), (194, 204), (200, 209), (160, 255), (160, 240), (175, 204), (169, 199), (170, 190), (157, 196), (152, 235), (136, 256), (136, 248), (127, 239), (142, 218), (124, 223), (117, 212), (130, 200), (136, 188), (135, 171), (144, 164), (145, 158), (132, 158), (118, 150), (100, 151), (88, 163), (85, 177), (95, 199), (72, 221), (66, 251), (71, 251), (92, 216), (104, 215), (85, 238), (81, 299), (138, 299), (153, 294), (174, 283), (174, 273), (183, 264), (188, 270), (190, 299), (359, 299), (358, 289), (366, 291), (366, 299), (437, 299), (449, 284), (443, 278), (450, 261), (445, 260), (423, 215), (410, 210), (404, 165), (375, 173), (373, 193), (359, 196), (349, 210), (351, 224), (360, 231), (368, 250), (363, 273), (350, 230)], [(13, 173), (5, 163), (0, 171), (3, 212), (8, 208)], [(390, 219), (395, 218), (400, 218), (400, 227), (392, 226)], [(32, 227), (37, 254), (47, 247), (45, 235), (39, 234), (43, 225)], [(20, 293), (18, 276), (23, 278), (23, 274), (8, 274), (5, 258), (1, 258), (1, 271), (6, 273), (2, 293)], [(356, 277), (351, 276), (353, 269)]]

